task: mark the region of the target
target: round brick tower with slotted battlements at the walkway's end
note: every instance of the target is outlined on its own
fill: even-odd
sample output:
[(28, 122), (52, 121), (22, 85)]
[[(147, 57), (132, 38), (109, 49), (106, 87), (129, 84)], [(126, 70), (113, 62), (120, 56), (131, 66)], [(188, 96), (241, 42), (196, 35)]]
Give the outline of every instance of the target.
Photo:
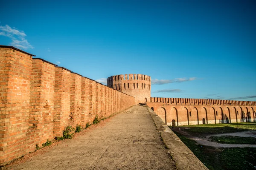
[(136, 103), (150, 101), (151, 77), (143, 74), (125, 74), (108, 77), (110, 88), (135, 97)]

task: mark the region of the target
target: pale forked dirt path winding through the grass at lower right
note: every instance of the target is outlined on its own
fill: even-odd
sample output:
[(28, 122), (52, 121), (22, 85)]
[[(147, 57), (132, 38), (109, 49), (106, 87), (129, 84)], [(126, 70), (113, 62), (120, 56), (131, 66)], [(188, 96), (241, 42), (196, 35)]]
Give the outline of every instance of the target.
[[(177, 130), (177, 128), (176, 128)], [(189, 133), (185, 132), (184, 130), (178, 131), (179, 133), (183, 134), (184, 136), (188, 137), (189, 139), (192, 139), (196, 141), (198, 144), (206, 145), (206, 146), (212, 146), (212, 147), (256, 147), (256, 144), (221, 144), (217, 142), (209, 141), (210, 136), (241, 136), (241, 137), (256, 137), (255, 130), (249, 130), (244, 132), (236, 132), (236, 133), (221, 133), (221, 134), (212, 134), (207, 135), (204, 137), (196, 137), (192, 136)]]

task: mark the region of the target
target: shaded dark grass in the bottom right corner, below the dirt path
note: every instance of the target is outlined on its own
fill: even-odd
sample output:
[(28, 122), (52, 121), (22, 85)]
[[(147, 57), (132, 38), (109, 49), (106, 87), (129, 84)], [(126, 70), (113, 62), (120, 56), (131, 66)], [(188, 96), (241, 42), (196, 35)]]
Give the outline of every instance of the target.
[(220, 149), (197, 144), (175, 132), (209, 170), (255, 170), (256, 148)]

